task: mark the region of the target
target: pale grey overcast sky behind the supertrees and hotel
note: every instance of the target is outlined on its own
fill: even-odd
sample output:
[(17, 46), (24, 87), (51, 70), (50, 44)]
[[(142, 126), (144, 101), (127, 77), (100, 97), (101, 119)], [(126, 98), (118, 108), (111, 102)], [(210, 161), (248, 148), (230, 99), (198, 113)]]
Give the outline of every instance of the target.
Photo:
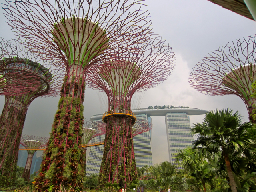
[[(4, 0), (0, 0), (4, 2)], [(190, 88), (188, 76), (193, 66), (206, 54), (236, 39), (254, 35), (256, 22), (226, 10), (207, 0), (146, 0), (153, 31), (166, 39), (176, 54), (172, 75), (152, 90), (138, 96), (134, 107), (155, 105), (189, 106), (204, 110), (231, 108), (248, 120), (245, 104), (238, 96), (207, 96)], [(14, 38), (0, 10), (0, 37)], [(95, 90), (86, 89), (84, 116), (106, 111), (104, 99)], [(49, 136), (59, 98), (36, 98), (28, 109), (24, 134)], [(140, 102), (138, 102), (140, 101)], [(140, 103), (140, 105), (138, 105)], [(4, 96), (0, 96), (3, 108)], [(190, 116), (190, 122), (202, 122), (204, 116)], [(168, 160), (164, 117), (152, 117), (152, 155), (154, 164)]]

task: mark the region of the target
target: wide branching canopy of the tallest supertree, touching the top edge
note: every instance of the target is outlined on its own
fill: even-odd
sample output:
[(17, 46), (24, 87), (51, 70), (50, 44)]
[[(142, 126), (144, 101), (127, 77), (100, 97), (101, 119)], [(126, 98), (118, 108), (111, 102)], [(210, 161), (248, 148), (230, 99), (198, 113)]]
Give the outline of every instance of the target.
[[(82, 65), (94, 64), (106, 56), (123, 53), (123, 47), (132, 44), (129, 37), (143, 38), (143, 35), (150, 33), (151, 24), (148, 21), (148, 12), (142, 10), (143, 4), (140, 0), (109, 0), (108, 2), (98, 2), (93, 0), (55, 1), (48, 0), (20, 0), (6, 1), (4, 10), (8, 24), (12, 26), (21, 40), (31, 51), (41, 58), (54, 62), (57, 66), (64, 64), (67, 68), (72, 64), (77, 64), (80, 60)], [(71, 18), (72, 17), (72, 18)], [(81, 23), (94, 27), (80, 29), (72, 24), (71, 20), (81, 19)], [(83, 34), (83, 40), (73, 41), (75, 36), (66, 34), (66, 30), (60, 28), (70, 28), (64, 22), (69, 20), (71, 28), (79, 30)], [(103, 35), (100, 32), (104, 32)], [(86, 34), (92, 34), (88, 36)], [(139, 35), (140, 34), (140, 35)], [(100, 38), (98, 37), (100, 36)], [(60, 45), (58, 41), (62, 37)], [(98, 38), (92, 45), (91, 39)], [(97, 48), (96, 44), (105, 44)], [(86, 50), (81, 47), (91, 44)], [(70, 46), (76, 50), (76, 59), (72, 60), (74, 52)], [(130, 50), (133, 52), (132, 50)], [(102, 54), (108, 52), (108, 54)], [(79, 59), (78, 59), (79, 58)]]

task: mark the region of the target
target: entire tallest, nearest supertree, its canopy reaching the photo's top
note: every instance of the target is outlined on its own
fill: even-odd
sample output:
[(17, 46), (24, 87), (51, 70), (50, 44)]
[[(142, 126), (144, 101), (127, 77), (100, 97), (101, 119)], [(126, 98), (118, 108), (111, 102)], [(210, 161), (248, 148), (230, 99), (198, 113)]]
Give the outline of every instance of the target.
[(82, 188), (84, 79), (90, 66), (106, 56), (123, 52), (127, 42), (132, 44), (137, 36), (141, 38), (150, 32), (148, 13), (139, 6), (143, 6), (140, 0), (6, 3), (8, 23), (18, 38), (34, 54), (66, 70), (36, 190), (59, 190), (60, 186)]

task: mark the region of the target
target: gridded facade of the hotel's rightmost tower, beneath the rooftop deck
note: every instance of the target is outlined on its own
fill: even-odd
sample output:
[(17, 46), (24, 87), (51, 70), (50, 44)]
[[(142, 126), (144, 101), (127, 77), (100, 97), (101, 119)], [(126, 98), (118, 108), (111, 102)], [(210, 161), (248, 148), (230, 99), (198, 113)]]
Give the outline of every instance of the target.
[(194, 141), (190, 130), (189, 116), (186, 113), (166, 113), (165, 125), (169, 160), (172, 164), (176, 164), (177, 152), (192, 146), (192, 141)]

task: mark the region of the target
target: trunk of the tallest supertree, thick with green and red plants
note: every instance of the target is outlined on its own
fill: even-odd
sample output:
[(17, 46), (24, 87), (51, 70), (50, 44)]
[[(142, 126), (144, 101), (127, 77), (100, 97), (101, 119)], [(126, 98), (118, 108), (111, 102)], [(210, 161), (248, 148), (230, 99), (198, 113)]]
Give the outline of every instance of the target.
[[(71, 70), (70, 70), (71, 71)], [(75, 75), (78, 72), (80, 75)], [(60, 190), (60, 186), (81, 190), (84, 178), (84, 155), (81, 148), (84, 101), (82, 67), (64, 79), (49, 143), (36, 178), (37, 191)], [(81, 77), (80, 77), (81, 76)]]

